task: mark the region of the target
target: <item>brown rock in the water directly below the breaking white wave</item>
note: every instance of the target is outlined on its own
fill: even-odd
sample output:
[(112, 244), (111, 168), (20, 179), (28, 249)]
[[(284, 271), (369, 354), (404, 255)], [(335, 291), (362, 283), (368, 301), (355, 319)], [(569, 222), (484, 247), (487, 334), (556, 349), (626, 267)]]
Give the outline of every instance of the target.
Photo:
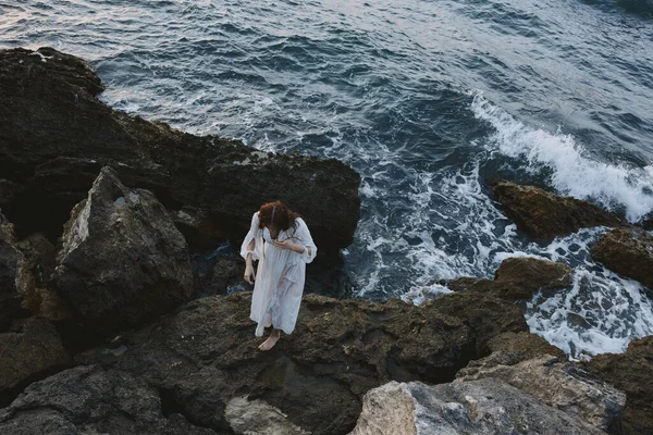
[(597, 206), (538, 187), (497, 183), (493, 189), (506, 215), (531, 237), (553, 239), (584, 227), (624, 224), (618, 216)]

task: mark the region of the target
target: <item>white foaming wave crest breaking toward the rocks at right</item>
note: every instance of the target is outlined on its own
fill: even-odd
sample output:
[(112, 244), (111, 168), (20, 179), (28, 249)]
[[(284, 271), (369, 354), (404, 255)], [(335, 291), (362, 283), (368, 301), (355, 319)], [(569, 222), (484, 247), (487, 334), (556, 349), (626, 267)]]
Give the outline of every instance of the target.
[(526, 159), (531, 172), (549, 167), (553, 172), (551, 184), (558, 192), (591, 199), (607, 209), (624, 207), (630, 222), (653, 211), (653, 166), (629, 167), (593, 160), (574, 136), (523, 125), (480, 91), (473, 94), (471, 110), (496, 130), (490, 137), (491, 151)]

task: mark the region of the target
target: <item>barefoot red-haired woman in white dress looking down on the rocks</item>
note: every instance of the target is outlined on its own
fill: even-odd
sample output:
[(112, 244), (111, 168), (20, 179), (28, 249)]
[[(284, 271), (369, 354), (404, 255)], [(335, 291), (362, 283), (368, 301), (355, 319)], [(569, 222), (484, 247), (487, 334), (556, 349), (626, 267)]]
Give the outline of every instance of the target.
[[(241, 256), (245, 258), (245, 281), (254, 284), (251, 296), (252, 321), (257, 322), (256, 336), (263, 336), (263, 328), (272, 326), (270, 337), (260, 350), (270, 350), (281, 331), (291, 334), (295, 330), (306, 263), (318, 252), (306, 223), (281, 201), (261, 206), (251, 217), (251, 227), (243, 240)], [(252, 261), (258, 260), (258, 276)]]

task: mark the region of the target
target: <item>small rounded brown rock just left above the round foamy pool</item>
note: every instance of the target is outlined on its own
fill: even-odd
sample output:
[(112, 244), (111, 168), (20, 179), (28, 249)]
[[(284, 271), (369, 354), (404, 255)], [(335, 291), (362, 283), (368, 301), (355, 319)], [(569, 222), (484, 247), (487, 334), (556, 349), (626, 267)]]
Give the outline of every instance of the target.
[(494, 281), (459, 277), (447, 283), (454, 291), (488, 291), (506, 300), (532, 298), (540, 290), (556, 290), (569, 286), (568, 265), (528, 257), (505, 259), (494, 274)]

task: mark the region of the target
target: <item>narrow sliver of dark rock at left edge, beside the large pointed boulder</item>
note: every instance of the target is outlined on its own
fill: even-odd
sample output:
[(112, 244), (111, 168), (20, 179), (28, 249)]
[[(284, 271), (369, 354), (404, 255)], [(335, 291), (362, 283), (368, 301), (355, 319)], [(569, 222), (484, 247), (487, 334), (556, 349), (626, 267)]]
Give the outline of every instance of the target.
[(0, 222), (0, 324), (21, 310), (29, 282), (25, 257), (14, 244), (13, 225)]

